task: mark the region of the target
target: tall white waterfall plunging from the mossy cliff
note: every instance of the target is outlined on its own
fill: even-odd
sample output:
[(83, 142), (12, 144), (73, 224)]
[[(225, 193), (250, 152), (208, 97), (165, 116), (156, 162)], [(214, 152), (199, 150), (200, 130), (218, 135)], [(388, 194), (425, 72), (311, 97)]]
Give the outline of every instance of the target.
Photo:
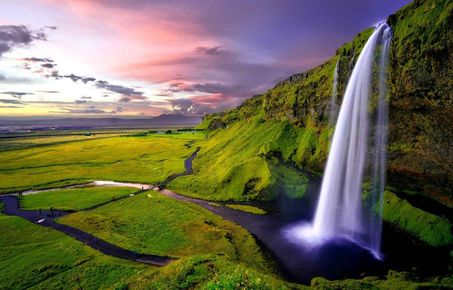
[[(338, 114), (313, 221), (285, 229), (287, 238), (294, 243), (313, 249), (352, 242), (370, 251), (376, 259), (383, 258), (380, 243), (388, 115), (386, 63), (390, 41), (391, 29), (381, 23), (360, 53)], [(378, 73), (374, 77), (378, 81), (373, 82), (376, 67)], [(338, 63), (335, 75), (337, 69)], [(336, 104), (332, 102), (336, 101), (336, 85), (334, 76), (330, 118), (335, 117), (332, 108)], [(368, 188), (363, 186), (365, 180), (370, 181)]]

